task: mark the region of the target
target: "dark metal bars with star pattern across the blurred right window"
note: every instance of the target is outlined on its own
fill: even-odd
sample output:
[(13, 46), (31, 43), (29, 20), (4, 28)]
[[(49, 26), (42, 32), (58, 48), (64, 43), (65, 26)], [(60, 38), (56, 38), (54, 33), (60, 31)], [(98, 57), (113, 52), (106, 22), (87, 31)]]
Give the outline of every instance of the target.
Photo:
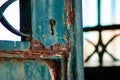
[[(83, 28), (83, 31), (84, 33), (87, 33), (87, 32), (97, 32), (98, 34), (98, 41), (95, 43), (94, 41), (91, 41), (89, 39), (85, 39), (88, 43), (90, 43), (93, 47), (94, 47), (94, 50), (91, 52), (91, 54), (85, 59), (85, 62), (88, 62), (90, 60), (90, 58), (92, 56), (94, 56), (96, 53), (98, 55), (98, 62), (99, 62), (99, 66), (102, 66), (103, 65), (103, 57), (105, 54), (109, 55), (114, 61), (117, 61), (118, 59), (115, 58), (111, 52), (107, 49), (108, 46), (110, 46), (110, 44), (120, 36), (120, 33), (117, 33), (115, 34), (114, 36), (112, 36), (109, 40), (106, 41), (106, 43), (104, 43), (104, 39), (103, 39), (103, 32), (104, 31), (109, 31), (111, 30), (114, 31), (114, 30), (119, 30), (120, 29), (120, 25), (101, 25), (101, 1), (102, 0), (98, 0), (97, 1), (97, 21), (98, 21), (98, 24), (96, 26), (93, 26), (93, 27), (84, 27)], [(92, 37), (92, 36), (91, 36)], [(95, 36), (93, 36), (94, 39), (96, 39)]]

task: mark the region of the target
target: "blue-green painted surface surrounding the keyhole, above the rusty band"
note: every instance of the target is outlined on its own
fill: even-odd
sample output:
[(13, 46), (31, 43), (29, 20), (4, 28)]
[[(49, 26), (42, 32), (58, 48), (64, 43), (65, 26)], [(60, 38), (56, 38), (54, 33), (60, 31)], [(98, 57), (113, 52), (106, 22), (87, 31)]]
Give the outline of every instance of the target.
[[(32, 0), (33, 38), (47, 47), (55, 43), (65, 43), (65, 6), (64, 0)], [(54, 35), (51, 35), (50, 20), (56, 20)]]

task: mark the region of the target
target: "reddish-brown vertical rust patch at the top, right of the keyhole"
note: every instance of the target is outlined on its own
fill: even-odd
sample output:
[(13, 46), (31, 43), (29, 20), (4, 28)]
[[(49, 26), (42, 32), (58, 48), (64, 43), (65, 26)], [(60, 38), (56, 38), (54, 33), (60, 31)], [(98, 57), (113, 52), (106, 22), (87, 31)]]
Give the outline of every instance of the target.
[(66, 23), (68, 26), (73, 26), (75, 21), (74, 0), (66, 0)]

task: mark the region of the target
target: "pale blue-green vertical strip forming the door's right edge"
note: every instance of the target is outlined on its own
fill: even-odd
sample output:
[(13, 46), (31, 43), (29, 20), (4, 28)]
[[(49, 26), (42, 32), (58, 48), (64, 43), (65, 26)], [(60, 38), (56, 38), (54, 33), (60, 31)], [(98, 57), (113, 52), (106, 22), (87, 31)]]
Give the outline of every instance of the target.
[(75, 80), (84, 80), (82, 0), (75, 0)]

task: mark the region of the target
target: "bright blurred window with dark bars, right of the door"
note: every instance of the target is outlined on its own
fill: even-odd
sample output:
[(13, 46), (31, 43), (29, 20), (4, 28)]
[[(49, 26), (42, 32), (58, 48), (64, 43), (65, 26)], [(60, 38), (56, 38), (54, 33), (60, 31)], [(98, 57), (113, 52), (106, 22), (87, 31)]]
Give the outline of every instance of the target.
[(120, 0), (83, 0), (85, 66), (119, 65), (119, 3)]

